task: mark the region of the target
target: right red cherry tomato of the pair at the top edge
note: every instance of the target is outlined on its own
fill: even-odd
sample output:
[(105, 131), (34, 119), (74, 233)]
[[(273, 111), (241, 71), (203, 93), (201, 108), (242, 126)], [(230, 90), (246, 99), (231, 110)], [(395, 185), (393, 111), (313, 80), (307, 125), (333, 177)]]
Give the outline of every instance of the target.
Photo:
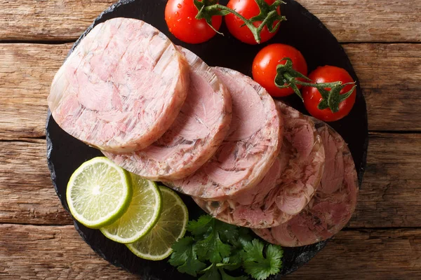
[[(266, 3), (269, 5), (272, 5), (275, 0), (265, 0)], [(227, 4), (228, 8), (231, 8), (232, 10), (235, 10), (237, 13), (242, 15), (246, 19), (250, 19), (255, 17), (256, 15), (259, 15), (260, 9), (258, 4), (255, 0), (230, 0)], [(281, 9), (278, 8), (278, 13), (281, 15)], [(279, 22), (274, 22), (274, 26)], [(250, 29), (248, 27), (241, 25), (244, 24), (243, 20), (241, 20), (236, 15), (230, 13), (229, 15), (225, 15), (225, 23), (227, 23), (227, 27), (229, 29), (229, 32), (237, 39), (239, 39), (243, 43), (248, 43), (250, 45), (255, 45), (257, 42), (255, 41), (255, 38), (253, 34), (251, 33)], [(260, 26), (262, 22), (254, 22), (253, 25), (255, 27)], [(262, 32), (260, 33), (261, 41), (260, 43), (268, 41), (270, 38), (275, 36), (276, 30), (274, 33), (270, 33), (267, 27), (264, 27), (262, 29)]]

